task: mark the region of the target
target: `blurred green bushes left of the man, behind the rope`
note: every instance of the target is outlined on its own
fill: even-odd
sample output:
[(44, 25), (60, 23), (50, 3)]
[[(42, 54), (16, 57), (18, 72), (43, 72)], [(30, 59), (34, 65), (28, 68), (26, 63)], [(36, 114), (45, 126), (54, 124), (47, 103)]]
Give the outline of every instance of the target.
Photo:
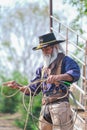
[[(2, 76), (1, 78), (2, 78), (3, 82), (7, 82), (9, 80), (15, 80), (17, 83), (19, 83), (21, 85), (28, 84), (27, 78), (17, 71), (14, 71), (12, 73), (11, 78), (6, 77), (6, 76)], [(0, 90), (1, 89), (2, 89), (2, 87), (0, 87)], [(12, 95), (15, 92), (16, 92), (16, 90), (13, 90), (9, 87), (3, 88), (3, 93), (5, 95)], [(19, 92), (18, 94), (16, 94), (13, 97), (10, 97), (10, 98), (6, 98), (4, 95), (0, 94), (0, 112), (3, 112), (3, 113), (18, 112), (18, 113), (20, 113), (21, 119), (19, 118), (19, 119), (15, 120), (15, 125), (20, 128), (25, 127), (27, 116), (29, 116), (28, 120), (27, 120), (27, 124), (26, 124), (26, 130), (29, 130), (29, 129), (37, 130), (38, 118), (39, 118), (40, 109), (41, 109), (42, 95), (40, 93), (39, 95), (33, 97), (33, 101), (31, 103), (31, 108), (29, 110), (29, 114), (26, 109), (28, 109), (30, 97), (26, 96), (26, 95), (24, 96), (24, 101), (25, 101), (25, 105), (26, 105), (26, 109), (25, 109), (24, 104), (23, 104), (23, 96), (24, 95), (21, 92)]]

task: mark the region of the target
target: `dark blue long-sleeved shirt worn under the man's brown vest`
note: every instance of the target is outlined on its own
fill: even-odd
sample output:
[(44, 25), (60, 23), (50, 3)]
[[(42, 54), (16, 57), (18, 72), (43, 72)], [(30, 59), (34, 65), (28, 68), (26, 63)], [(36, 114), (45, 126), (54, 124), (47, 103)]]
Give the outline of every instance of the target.
[[(36, 77), (33, 80), (31, 80), (31, 82), (41, 79), (41, 71), (42, 67), (39, 67), (36, 70)], [(64, 73), (67, 73), (72, 76), (73, 78), (72, 83), (78, 81), (80, 78), (80, 68), (78, 64), (68, 56), (65, 56), (62, 61), (61, 74)], [(47, 77), (45, 76), (45, 78)], [(29, 85), (29, 87), (32, 92), (35, 92), (35, 95), (37, 95), (40, 91), (42, 91), (43, 93), (47, 93), (53, 91), (54, 89), (57, 90), (59, 88), (62, 89), (63, 91), (66, 90), (66, 87), (62, 84), (60, 84), (60, 87), (56, 87), (55, 84), (47, 84), (46, 82), (43, 82), (42, 84), (40, 82), (35, 83), (33, 85)]]

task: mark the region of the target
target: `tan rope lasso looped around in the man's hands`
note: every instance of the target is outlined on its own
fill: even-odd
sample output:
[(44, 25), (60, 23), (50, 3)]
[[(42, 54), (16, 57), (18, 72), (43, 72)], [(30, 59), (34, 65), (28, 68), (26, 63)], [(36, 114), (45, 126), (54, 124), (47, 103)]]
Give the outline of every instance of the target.
[[(37, 121), (42, 122), (41, 120), (39, 120), (36, 116), (34, 116), (34, 115), (32, 114), (32, 105), (33, 105), (34, 97), (35, 97), (35, 95), (36, 95), (36, 92), (37, 92), (38, 88), (41, 87), (42, 82), (45, 82), (45, 81), (46, 81), (46, 79), (41, 79), (41, 80), (34, 81), (34, 82), (32, 82), (32, 83), (30, 84), (30, 85), (32, 85), (32, 84), (40, 83), (40, 85), (37, 87), (37, 89), (35, 90), (35, 92), (33, 92), (33, 95), (32, 95), (31, 89), (30, 89), (28, 86), (26, 86), (26, 89), (25, 89), (25, 91), (23, 92), (23, 106), (24, 106), (24, 108), (25, 108), (25, 110), (26, 110), (26, 112), (27, 112), (26, 120), (25, 120), (25, 125), (24, 125), (24, 130), (26, 130), (27, 123), (28, 123), (28, 119), (29, 119), (29, 115), (31, 115), (33, 119), (36, 119)], [(63, 84), (63, 85), (64, 85), (64, 83), (65, 83), (66, 85), (70, 85), (68, 82), (65, 82), (65, 81), (58, 81), (58, 82), (60, 82), (60, 83)], [(65, 87), (66, 87), (66, 85), (65, 85)], [(2, 94), (3, 96), (5, 96), (6, 98), (11, 98), (11, 97), (15, 96), (15, 95), (16, 95), (18, 92), (20, 92), (20, 90), (21, 90), (21, 87), (20, 87), (20, 89), (18, 89), (15, 93), (13, 93), (13, 94), (11, 94), (11, 95), (5, 95), (4, 92), (3, 92), (3, 88), (4, 88), (4, 86), (2, 85), (1, 94)], [(29, 93), (29, 103), (28, 103), (28, 107), (25, 105), (25, 93), (26, 93), (26, 90), (27, 90), (27, 89), (28, 89), (29, 92), (30, 92), (30, 93)], [(63, 97), (60, 97), (60, 98), (58, 98), (58, 99), (61, 99), (61, 98), (66, 97), (66, 95), (68, 94), (68, 88), (66, 87), (66, 89), (67, 89), (67, 93), (66, 93)], [(76, 103), (75, 97), (74, 97), (74, 95), (72, 94), (72, 92), (70, 92), (70, 94), (71, 94), (71, 96), (73, 97), (73, 101), (74, 101), (74, 104), (75, 104), (76, 110), (77, 110), (77, 103)], [(76, 118), (77, 118), (77, 112), (75, 112), (75, 113), (73, 114), (73, 116), (75, 116), (75, 119), (74, 119), (74, 121), (73, 121), (73, 124), (69, 127), (68, 130), (70, 130), (70, 128), (75, 124), (75, 121), (76, 121)], [(72, 117), (72, 118), (73, 118), (73, 117)], [(72, 118), (71, 118), (71, 120), (72, 120)], [(67, 123), (65, 123), (65, 124), (63, 124), (63, 125), (64, 125), (64, 126), (65, 126), (65, 125), (68, 125), (68, 124), (71, 122), (71, 120), (69, 120)], [(50, 124), (50, 125), (53, 125), (53, 124)], [(63, 126), (63, 125), (62, 125), (62, 126)], [(54, 126), (59, 126), (59, 125), (54, 124)], [(38, 129), (39, 129), (39, 128), (38, 128)]]

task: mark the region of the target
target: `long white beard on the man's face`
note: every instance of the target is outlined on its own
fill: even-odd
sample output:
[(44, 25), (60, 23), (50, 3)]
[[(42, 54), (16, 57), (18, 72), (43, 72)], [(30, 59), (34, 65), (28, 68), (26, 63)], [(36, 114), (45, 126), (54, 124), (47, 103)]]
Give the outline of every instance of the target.
[(56, 48), (53, 49), (52, 55), (44, 55), (43, 60), (44, 60), (44, 68), (48, 67), (56, 58), (58, 55), (58, 50)]

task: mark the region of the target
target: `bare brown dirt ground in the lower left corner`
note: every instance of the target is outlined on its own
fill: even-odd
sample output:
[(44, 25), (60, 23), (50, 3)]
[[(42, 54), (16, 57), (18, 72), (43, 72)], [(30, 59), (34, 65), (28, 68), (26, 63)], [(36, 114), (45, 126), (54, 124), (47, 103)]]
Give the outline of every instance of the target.
[(0, 113), (0, 130), (22, 130), (14, 125), (14, 119), (19, 118), (19, 114)]

